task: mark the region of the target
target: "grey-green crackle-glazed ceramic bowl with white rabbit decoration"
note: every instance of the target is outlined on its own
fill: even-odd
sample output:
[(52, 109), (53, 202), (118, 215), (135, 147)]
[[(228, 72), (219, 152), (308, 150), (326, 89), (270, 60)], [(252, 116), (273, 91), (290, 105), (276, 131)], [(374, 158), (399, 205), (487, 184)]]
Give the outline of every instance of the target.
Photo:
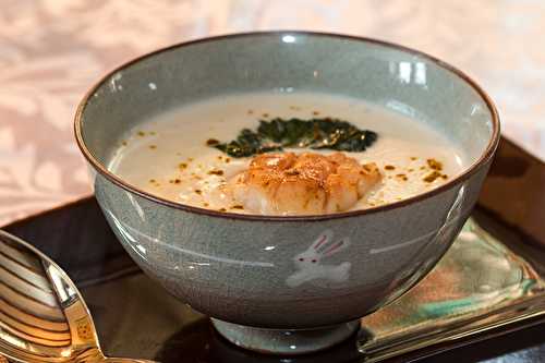
[[(298, 217), (177, 204), (107, 170), (135, 124), (183, 104), (252, 90), (325, 92), (384, 106), (448, 134), (471, 165), (409, 199)], [(211, 316), (231, 341), (300, 353), (343, 339), (354, 320), (431, 270), (471, 213), (499, 123), (473, 81), (427, 55), (373, 39), (275, 32), (190, 41), (120, 66), (82, 100), (75, 134), (106, 218), (146, 274)]]

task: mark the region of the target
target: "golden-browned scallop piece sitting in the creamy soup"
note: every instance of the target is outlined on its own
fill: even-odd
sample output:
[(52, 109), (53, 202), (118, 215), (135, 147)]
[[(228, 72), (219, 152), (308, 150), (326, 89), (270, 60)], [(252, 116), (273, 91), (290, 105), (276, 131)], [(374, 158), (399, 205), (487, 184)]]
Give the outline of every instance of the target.
[(352, 207), (379, 180), (374, 162), (361, 165), (342, 153), (263, 154), (238, 176), (234, 194), (252, 209), (245, 198), (257, 192), (264, 199), (265, 210), (255, 210), (261, 213), (332, 213)]

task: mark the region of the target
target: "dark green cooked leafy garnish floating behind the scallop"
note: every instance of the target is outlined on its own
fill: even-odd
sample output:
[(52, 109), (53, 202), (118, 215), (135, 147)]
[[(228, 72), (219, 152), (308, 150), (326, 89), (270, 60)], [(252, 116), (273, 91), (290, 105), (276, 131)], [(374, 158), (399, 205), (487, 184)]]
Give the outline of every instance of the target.
[(281, 150), (284, 147), (308, 147), (339, 152), (364, 152), (378, 135), (370, 130), (360, 130), (338, 119), (289, 119), (259, 120), (256, 131), (243, 129), (235, 140), (228, 143), (211, 143), (232, 157)]

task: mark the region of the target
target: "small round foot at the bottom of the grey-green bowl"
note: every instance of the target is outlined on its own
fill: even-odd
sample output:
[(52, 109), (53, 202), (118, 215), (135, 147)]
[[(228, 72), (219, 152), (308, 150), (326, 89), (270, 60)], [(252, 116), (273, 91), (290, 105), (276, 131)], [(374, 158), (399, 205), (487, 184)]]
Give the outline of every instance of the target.
[(360, 320), (313, 329), (266, 329), (211, 318), (216, 330), (235, 346), (266, 354), (305, 354), (332, 347), (348, 339)]

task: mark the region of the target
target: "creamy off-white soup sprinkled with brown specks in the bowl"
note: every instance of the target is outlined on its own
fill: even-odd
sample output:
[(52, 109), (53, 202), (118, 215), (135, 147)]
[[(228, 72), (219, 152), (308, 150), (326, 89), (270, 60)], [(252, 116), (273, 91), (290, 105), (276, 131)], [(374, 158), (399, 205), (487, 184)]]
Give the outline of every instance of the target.
[[(365, 150), (343, 152), (362, 165), (374, 164), (380, 174), (380, 180), (346, 210), (375, 207), (429, 191), (455, 178), (467, 164), (463, 152), (424, 121), (355, 98), (264, 93), (217, 97), (147, 120), (120, 140), (108, 168), (130, 184), (173, 202), (263, 214), (267, 209), (249, 210), (225, 189), (247, 170), (252, 157), (229, 156), (210, 145), (234, 140), (242, 129), (255, 130), (259, 120), (274, 118), (335, 118), (377, 133), (377, 141)], [(336, 153), (308, 148), (281, 153), (289, 152)]]

